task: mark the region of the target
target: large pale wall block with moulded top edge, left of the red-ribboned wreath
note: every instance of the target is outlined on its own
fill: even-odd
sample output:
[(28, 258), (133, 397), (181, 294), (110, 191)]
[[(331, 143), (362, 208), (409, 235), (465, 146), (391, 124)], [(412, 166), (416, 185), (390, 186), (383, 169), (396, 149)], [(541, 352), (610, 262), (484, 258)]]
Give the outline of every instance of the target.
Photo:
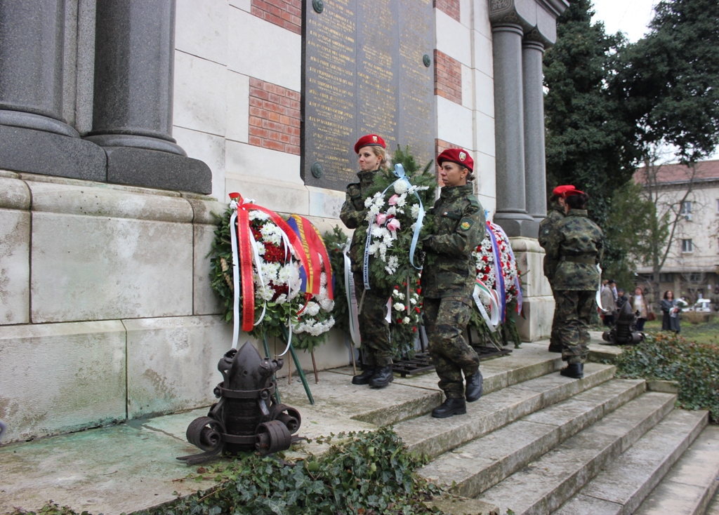
[(34, 323), (191, 315), (187, 200), (92, 185), (29, 186)]

